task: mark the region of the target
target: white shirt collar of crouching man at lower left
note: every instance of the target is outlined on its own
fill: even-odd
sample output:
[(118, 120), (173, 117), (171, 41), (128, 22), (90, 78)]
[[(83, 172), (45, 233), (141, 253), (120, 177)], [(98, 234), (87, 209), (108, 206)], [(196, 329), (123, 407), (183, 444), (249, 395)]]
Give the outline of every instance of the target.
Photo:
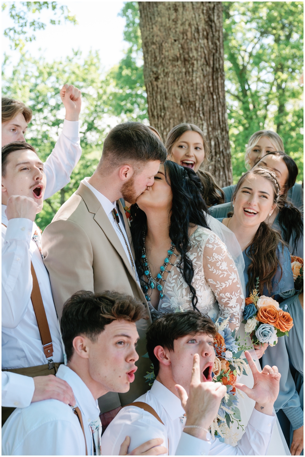
[(91, 420), (95, 420), (100, 415), (98, 402), (93, 398), (89, 388), (79, 375), (71, 370), (71, 368), (60, 365), (56, 376), (66, 381), (72, 388), (76, 404), (79, 405), (84, 413), (86, 421), (89, 423)]

